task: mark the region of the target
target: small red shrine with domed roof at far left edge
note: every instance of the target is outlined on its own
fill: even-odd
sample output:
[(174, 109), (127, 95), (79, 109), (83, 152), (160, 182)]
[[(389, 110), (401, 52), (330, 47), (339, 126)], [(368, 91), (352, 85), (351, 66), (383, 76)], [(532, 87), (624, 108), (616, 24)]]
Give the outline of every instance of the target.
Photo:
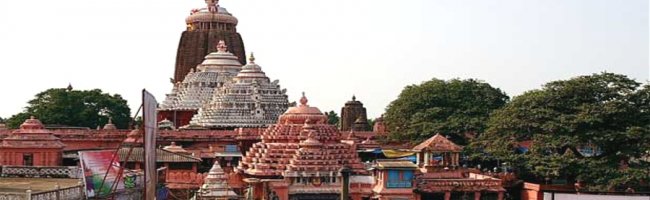
[(0, 165), (61, 166), (65, 145), (33, 116), (2, 140)]

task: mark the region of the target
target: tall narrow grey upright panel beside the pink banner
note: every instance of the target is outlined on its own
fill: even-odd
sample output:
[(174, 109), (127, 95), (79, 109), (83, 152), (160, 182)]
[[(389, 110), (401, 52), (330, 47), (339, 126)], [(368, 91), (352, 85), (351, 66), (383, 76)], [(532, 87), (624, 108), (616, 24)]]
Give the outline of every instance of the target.
[(156, 98), (142, 90), (142, 120), (144, 121), (144, 158), (145, 158), (145, 200), (156, 199), (156, 185), (158, 171), (156, 170), (156, 112), (158, 102)]

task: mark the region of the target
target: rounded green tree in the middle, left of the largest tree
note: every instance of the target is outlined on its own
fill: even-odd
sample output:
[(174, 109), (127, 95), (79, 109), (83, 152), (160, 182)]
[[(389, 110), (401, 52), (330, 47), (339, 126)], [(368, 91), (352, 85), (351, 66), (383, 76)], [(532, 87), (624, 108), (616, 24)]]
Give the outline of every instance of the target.
[(396, 140), (422, 141), (442, 133), (457, 144), (466, 135), (483, 132), (489, 114), (505, 105), (508, 96), (474, 79), (432, 79), (409, 85), (388, 105), (384, 120)]

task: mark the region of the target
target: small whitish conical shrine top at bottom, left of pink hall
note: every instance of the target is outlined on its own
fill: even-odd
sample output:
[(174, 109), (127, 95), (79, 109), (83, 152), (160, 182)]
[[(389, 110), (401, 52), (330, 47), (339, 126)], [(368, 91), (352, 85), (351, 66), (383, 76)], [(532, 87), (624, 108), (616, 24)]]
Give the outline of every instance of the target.
[(196, 193), (194, 200), (236, 200), (237, 195), (228, 186), (228, 175), (221, 169), (219, 162), (215, 162), (205, 177), (205, 181), (199, 191)]

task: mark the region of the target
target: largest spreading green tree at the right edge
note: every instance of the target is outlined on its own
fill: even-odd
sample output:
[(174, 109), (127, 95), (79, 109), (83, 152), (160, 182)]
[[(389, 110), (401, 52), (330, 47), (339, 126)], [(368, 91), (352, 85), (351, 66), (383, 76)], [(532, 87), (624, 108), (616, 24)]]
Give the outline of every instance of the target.
[[(609, 190), (650, 180), (650, 87), (600, 73), (547, 83), (494, 112), (475, 143), (526, 179)], [(526, 153), (513, 151), (532, 141)], [(593, 150), (593, 154), (583, 154)]]

